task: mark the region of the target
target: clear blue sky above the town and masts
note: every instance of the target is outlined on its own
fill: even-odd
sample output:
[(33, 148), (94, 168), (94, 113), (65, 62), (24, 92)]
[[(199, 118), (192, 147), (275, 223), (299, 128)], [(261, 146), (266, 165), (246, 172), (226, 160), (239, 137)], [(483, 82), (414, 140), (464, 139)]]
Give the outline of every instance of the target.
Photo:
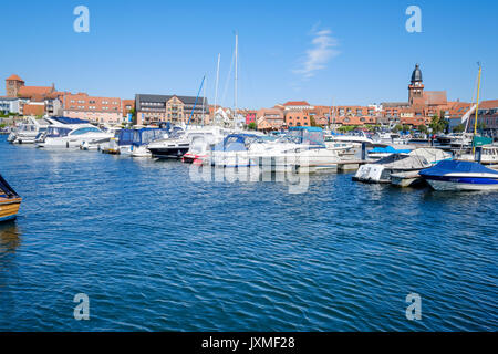
[[(76, 6), (90, 33), (73, 31)], [(408, 6), (422, 33), (408, 33)], [(195, 95), (204, 74), (234, 104), (229, 76), (239, 33), (239, 106), (406, 101), (415, 63), (426, 90), (470, 101), (477, 61), (483, 98), (498, 98), (496, 1), (9, 1), (2, 3), (0, 76), (27, 85), (133, 98), (136, 93)], [(4, 87), (0, 94), (4, 94)]]

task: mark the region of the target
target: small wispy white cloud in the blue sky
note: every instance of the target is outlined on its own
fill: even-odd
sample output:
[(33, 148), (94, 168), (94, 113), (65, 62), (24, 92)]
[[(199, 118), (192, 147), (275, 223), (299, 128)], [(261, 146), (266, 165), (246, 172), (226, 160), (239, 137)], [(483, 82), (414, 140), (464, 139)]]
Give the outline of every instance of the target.
[(339, 42), (332, 37), (331, 30), (313, 29), (312, 35), (312, 48), (305, 52), (300, 67), (293, 70), (295, 74), (300, 74), (304, 79), (310, 79), (317, 71), (325, 69), (329, 61), (341, 53), (336, 50)]

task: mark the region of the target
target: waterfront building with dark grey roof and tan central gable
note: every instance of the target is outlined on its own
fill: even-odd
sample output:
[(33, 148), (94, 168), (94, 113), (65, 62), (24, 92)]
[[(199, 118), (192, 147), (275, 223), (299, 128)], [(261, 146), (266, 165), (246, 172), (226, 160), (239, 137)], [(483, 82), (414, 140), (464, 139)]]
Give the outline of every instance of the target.
[(195, 102), (195, 96), (137, 94), (135, 95), (137, 124), (187, 123), (190, 114), (191, 124), (209, 122), (207, 98), (198, 97), (197, 104)]

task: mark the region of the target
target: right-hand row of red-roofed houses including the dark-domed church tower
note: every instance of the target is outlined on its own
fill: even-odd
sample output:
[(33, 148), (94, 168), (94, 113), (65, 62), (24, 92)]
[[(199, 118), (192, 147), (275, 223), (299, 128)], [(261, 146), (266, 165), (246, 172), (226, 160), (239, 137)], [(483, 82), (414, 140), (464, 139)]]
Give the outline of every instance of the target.
[[(474, 104), (448, 101), (446, 91), (425, 91), (422, 71), (417, 64), (408, 84), (408, 101), (384, 102), (367, 106), (314, 106), (305, 101), (291, 101), (272, 108), (245, 110), (246, 124), (258, 129), (281, 129), (292, 126), (321, 125), (366, 126), (429, 125), (433, 117), (444, 117), (454, 128), (463, 123)], [(479, 105), (478, 123), (490, 131), (498, 131), (498, 100), (484, 101)], [(473, 126), (470, 116), (468, 126)]]

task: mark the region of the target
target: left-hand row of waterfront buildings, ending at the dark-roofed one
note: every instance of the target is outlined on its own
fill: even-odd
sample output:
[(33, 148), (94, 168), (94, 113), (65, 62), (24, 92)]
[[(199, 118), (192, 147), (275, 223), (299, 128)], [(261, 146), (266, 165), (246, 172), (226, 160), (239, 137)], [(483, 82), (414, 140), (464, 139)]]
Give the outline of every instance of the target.
[(0, 97), (0, 112), (25, 116), (63, 115), (110, 125), (129, 123), (133, 113), (138, 125), (180, 123), (190, 115), (197, 123), (209, 118), (208, 103), (204, 97), (196, 102), (196, 97), (179, 95), (137, 94), (135, 100), (91, 96), (82, 92), (61, 92), (54, 84), (27, 86), (15, 74), (6, 79), (6, 93)]

